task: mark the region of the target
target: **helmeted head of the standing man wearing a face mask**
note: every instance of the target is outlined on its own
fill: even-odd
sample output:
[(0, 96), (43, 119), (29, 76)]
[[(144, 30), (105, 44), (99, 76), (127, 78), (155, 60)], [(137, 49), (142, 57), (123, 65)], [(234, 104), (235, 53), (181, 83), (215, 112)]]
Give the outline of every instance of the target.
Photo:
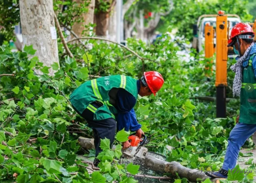
[(231, 30), (228, 47), (233, 47), (234, 52), (241, 57), (253, 43), (254, 34), (249, 24), (238, 23)]

